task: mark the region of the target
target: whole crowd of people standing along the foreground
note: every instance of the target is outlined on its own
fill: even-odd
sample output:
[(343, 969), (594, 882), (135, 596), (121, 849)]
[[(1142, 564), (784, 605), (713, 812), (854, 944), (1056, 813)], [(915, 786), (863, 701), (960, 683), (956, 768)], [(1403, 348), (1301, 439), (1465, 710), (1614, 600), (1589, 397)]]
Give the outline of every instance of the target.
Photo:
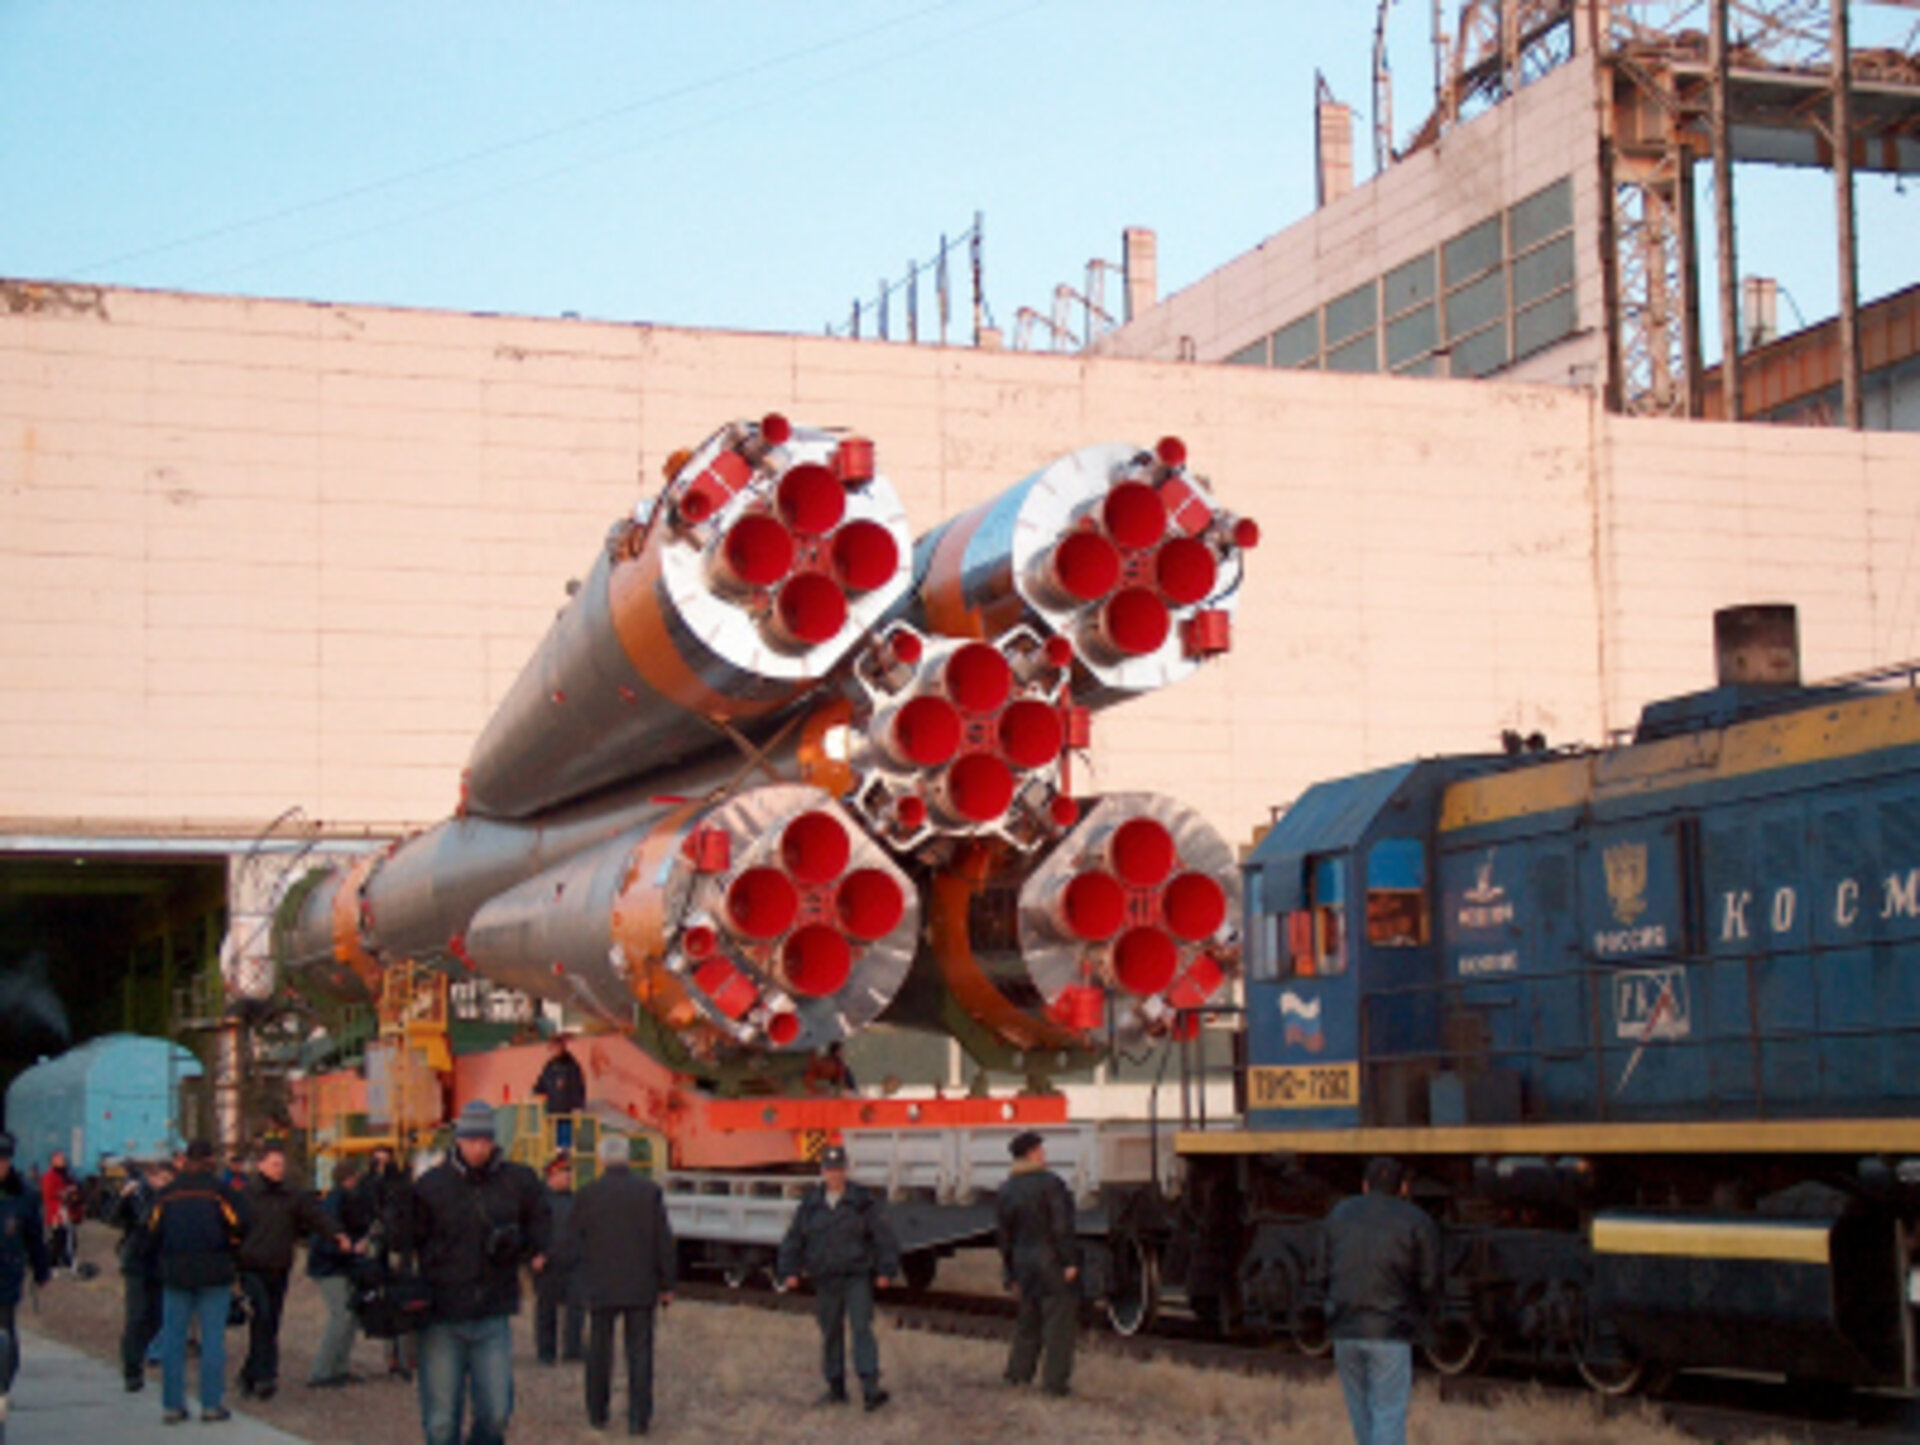
[[(564, 1100), (570, 1080), (564, 1067), (559, 1073), (551, 1092)], [(71, 1261), (79, 1224), (65, 1159), (56, 1155), (40, 1188), (29, 1188), (13, 1153), (13, 1140), (0, 1134), (0, 1399), (17, 1366), (13, 1313), (25, 1282), (44, 1284), (61, 1257)], [(1004, 1378), (1016, 1387), (1039, 1378), (1048, 1395), (1068, 1395), (1079, 1315), (1073, 1199), (1046, 1167), (1041, 1134), (1018, 1134), (1010, 1153), (995, 1219), (1002, 1280), (1018, 1299)], [(607, 1430), (620, 1334), (626, 1430), (649, 1432), (655, 1320), (674, 1299), (676, 1245), (664, 1196), (632, 1169), (626, 1138), (601, 1136), (597, 1178), (578, 1194), (570, 1151), (555, 1155), (543, 1178), (511, 1161), (484, 1102), (461, 1109), (445, 1157), (417, 1178), (390, 1148), (365, 1161), (340, 1159), (324, 1197), (290, 1182), (278, 1142), (263, 1144), (250, 1163), (221, 1167), (207, 1142), (194, 1142), (131, 1171), (106, 1211), (121, 1230), (125, 1386), (144, 1389), (157, 1361), (165, 1424), (190, 1418), (192, 1336), (200, 1418), (230, 1418), (227, 1330), (240, 1316), (246, 1355), (236, 1387), (250, 1399), (275, 1395), (280, 1320), (305, 1242), (305, 1272), (326, 1305), (309, 1387), (359, 1382), (349, 1368), (355, 1334), (380, 1336), (386, 1368), (419, 1378), (426, 1445), (503, 1441), (513, 1416), (513, 1315), (522, 1272), (530, 1272), (538, 1362), (582, 1362), (588, 1424)], [(48, 1188), (58, 1190), (61, 1209), (52, 1207)], [(1327, 1217), (1319, 1268), (1354, 1435), (1359, 1445), (1404, 1445), (1411, 1341), (1436, 1299), (1438, 1236), (1405, 1199), (1396, 1161), (1371, 1161), (1365, 1192)], [(776, 1272), (787, 1288), (804, 1280), (814, 1291), (820, 1405), (852, 1401), (851, 1341), (862, 1405), (885, 1407), (874, 1291), (900, 1280), (900, 1245), (881, 1197), (849, 1178), (843, 1148), (824, 1149)]]

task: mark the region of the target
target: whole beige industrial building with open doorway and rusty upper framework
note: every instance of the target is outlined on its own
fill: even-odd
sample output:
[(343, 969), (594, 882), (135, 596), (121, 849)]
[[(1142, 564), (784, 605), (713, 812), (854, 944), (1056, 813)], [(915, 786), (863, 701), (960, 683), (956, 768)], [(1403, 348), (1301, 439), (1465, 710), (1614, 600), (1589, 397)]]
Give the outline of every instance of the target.
[[(1263, 530), (1235, 649), (1087, 777), (1240, 841), (1334, 771), (1603, 743), (1707, 685), (1730, 601), (1795, 603), (1809, 675), (1920, 654), (1912, 294), (1699, 355), (1682, 173), (1822, 161), (1782, 100), (1818, 77), (1488, 10), (1407, 154), (1342, 186), (1325, 106), (1325, 203), (1164, 299), (1135, 232), (1077, 353), (0, 282), (0, 950), (77, 1038), (265, 967), (288, 877), (444, 817), (609, 524), (766, 411), (874, 438), (916, 528), (1183, 438)], [(1868, 59), (1837, 154), (1912, 171), (1914, 59)]]

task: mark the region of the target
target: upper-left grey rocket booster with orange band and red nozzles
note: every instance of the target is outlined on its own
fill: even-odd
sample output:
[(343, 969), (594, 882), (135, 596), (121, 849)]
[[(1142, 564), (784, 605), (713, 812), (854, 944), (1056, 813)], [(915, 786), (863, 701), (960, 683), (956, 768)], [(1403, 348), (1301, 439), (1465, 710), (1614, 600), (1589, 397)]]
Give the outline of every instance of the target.
[(906, 537), (870, 441), (722, 428), (609, 533), (474, 743), (467, 808), (530, 817), (785, 708), (900, 599)]

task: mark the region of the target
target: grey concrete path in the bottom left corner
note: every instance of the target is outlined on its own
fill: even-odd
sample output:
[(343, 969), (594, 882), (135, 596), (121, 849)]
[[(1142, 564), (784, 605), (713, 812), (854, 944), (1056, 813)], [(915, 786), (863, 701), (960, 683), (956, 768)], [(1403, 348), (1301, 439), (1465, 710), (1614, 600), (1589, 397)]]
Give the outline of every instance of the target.
[[(225, 1424), (204, 1426), (192, 1399), (186, 1424), (163, 1426), (157, 1370), (148, 1372), (146, 1389), (129, 1395), (119, 1368), (31, 1328), (21, 1328), (19, 1351), (6, 1445), (301, 1445), (300, 1435), (288, 1435), (240, 1410)], [(190, 1366), (188, 1389), (196, 1378)], [(227, 1409), (232, 1409), (230, 1401)]]

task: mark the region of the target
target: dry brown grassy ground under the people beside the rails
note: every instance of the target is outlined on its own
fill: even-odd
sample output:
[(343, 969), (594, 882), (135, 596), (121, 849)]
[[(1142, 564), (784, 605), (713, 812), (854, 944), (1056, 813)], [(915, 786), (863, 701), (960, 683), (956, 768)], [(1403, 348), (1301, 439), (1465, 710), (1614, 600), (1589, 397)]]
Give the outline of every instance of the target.
[[(117, 1359), (121, 1280), (113, 1236), (83, 1230), (83, 1257), (102, 1272), (58, 1278), (40, 1295), (35, 1328), (104, 1361)], [(945, 1272), (943, 1272), (943, 1282)], [(384, 1376), (384, 1345), (361, 1339), (353, 1368), (367, 1382), (346, 1389), (307, 1389), (301, 1382), (326, 1318), (319, 1290), (296, 1274), (280, 1332), (280, 1393), (246, 1403), (252, 1414), (317, 1445), (401, 1445), (420, 1437), (411, 1386)], [(885, 1311), (881, 1311), (885, 1320)], [(1148, 1445), (1233, 1445), (1288, 1439), (1336, 1445), (1348, 1439), (1332, 1382), (1277, 1382), (1194, 1370), (1165, 1361), (1146, 1364), (1083, 1353), (1075, 1399), (998, 1384), (1004, 1347), (895, 1332), (881, 1324), (881, 1362), (893, 1405), (877, 1414), (822, 1410), (818, 1336), (812, 1322), (716, 1305), (682, 1303), (660, 1320), (653, 1435), (666, 1441), (931, 1441), (1039, 1439), (1146, 1441)], [(240, 1347), (244, 1332), (228, 1336)], [(605, 1439), (586, 1428), (580, 1366), (534, 1362), (530, 1305), (515, 1318), (513, 1433), (518, 1439)], [(33, 1362), (27, 1361), (27, 1370)], [(238, 1359), (232, 1361), (238, 1370)], [(159, 1420), (157, 1372), (146, 1395)], [(238, 1403), (238, 1401), (236, 1401)], [(624, 1386), (614, 1386), (616, 1424)], [(1421, 1386), (1413, 1445), (1682, 1445), (1684, 1437), (1651, 1416), (1601, 1420), (1584, 1405), (1517, 1395), (1496, 1410), (1442, 1405)]]

